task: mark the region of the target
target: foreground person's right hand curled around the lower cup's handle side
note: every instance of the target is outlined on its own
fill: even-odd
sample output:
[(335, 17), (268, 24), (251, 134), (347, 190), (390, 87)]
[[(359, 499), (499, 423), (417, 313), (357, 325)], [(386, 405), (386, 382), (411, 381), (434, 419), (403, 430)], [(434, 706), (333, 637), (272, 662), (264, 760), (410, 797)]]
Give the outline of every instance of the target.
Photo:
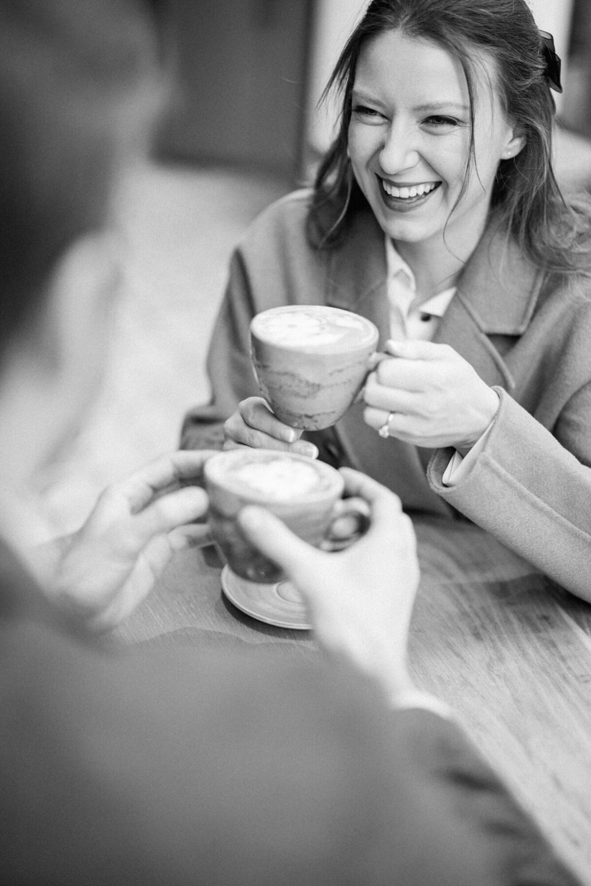
[(371, 508), (368, 532), (350, 548), (336, 554), (312, 548), (260, 508), (245, 508), (240, 524), (305, 597), (323, 649), (376, 677), (396, 703), (413, 689), (406, 657), (419, 579), (415, 532), (396, 495), (357, 471), (342, 473), (347, 494)]

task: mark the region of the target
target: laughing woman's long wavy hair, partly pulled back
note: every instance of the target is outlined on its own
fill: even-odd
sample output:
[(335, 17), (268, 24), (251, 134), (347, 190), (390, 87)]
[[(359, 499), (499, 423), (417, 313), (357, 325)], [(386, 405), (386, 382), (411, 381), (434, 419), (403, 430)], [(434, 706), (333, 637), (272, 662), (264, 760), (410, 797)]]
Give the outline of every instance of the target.
[[(307, 235), (317, 248), (338, 245), (353, 215), (369, 208), (347, 156), (355, 68), (362, 47), (386, 31), (436, 43), (457, 58), (470, 97), (470, 143), (462, 198), (474, 154), (474, 106), (478, 50), (494, 58), (503, 112), (525, 136), (517, 156), (503, 159), (491, 198), (494, 220), (510, 232), (541, 268), (589, 270), (591, 204), (567, 203), (552, 168), (556, 105), (550, 94), (543, 43), (525, 0), (372, 0), (338, 58), (323, 93), (342, 93), (338, 134), (318, 168), (307, 218)], [(453, 212), (453, 210), (452, 210)], [(590, 271), (591, 273), (591, 271)]]

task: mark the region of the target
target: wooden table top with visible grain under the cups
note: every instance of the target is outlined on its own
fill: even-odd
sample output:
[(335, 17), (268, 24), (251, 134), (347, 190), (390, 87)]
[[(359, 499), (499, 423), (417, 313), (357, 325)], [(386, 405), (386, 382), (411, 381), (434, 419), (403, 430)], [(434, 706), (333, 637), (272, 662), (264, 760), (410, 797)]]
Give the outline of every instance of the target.
[[(564, 859), (591, 886), (591, 605), (463, 521), (416, 520), (416, 682), (445, 699)], [(265, 645), (320, 655), (309, 632), (239, 612), (212, 548), (176, 557), (117, 640)], [(591, 558), (589, 563), (591, 582)]]

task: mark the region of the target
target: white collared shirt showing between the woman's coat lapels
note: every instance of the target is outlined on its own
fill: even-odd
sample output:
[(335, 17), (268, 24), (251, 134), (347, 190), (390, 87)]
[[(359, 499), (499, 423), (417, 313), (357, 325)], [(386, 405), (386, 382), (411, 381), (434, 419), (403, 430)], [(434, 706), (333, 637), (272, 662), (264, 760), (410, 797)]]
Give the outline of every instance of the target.
[(432, 341), (441, 317), (454, 298), (455, 286), (416, 305), (416, 279), (412, 269), (385, 237), (386, 293), (390, 306), (390, 338), (395, 341), (420, 338)]

